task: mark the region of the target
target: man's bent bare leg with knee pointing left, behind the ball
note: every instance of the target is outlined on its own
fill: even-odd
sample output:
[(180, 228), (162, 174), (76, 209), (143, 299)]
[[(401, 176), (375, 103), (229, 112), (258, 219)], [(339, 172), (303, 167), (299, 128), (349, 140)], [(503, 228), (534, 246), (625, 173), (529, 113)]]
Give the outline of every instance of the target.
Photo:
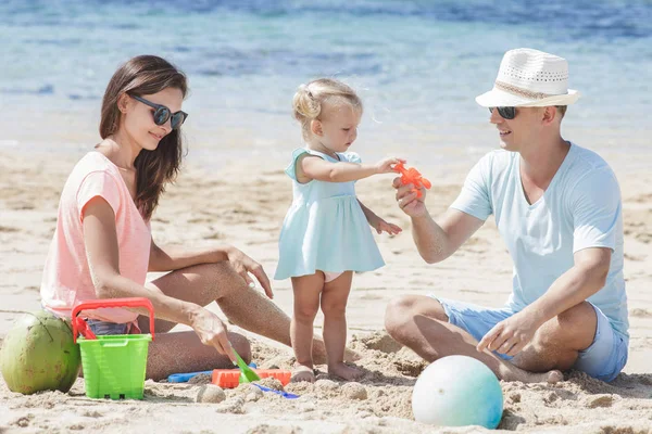
[(479, 353), (476, 349), (478, 342), (466, 331), (448, 321), (449, 318), (441, 303), (424, 295), (404, 295), (394, 298), (385, 314), (385, 327), (388, 333), (427, 361), (451, 355), (463, 355), (482, 361), (501, 380), (528, 383), (555, 383), (563, 380), (562, 373), (556, 370), (531, 373), (489, 350)]

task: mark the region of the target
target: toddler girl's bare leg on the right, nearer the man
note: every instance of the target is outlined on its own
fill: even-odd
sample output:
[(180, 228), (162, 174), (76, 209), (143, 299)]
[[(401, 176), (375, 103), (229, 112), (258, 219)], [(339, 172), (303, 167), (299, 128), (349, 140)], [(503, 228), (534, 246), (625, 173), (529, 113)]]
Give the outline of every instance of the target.
[(344, 380), (355, 380), (362, 372), (344, 365), (347, 345), (347, 301), (351, 292), (353, 272), (343, 272), (324, 284), (322, 311), (324, 312), (324, 343), (328, 358), (328, 373)]

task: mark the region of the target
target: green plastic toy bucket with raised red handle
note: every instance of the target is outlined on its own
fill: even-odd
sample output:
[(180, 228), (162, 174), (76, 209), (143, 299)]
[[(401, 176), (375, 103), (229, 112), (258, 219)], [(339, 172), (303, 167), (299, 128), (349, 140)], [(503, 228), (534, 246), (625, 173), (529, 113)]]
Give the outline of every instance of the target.
[[(148, 307), (152, 334), (79, 336), (77, 315), (99, 307)], [(84, 302), (73, 309), (74, 335), (82, 353), (86, 396), (106, 399), (142, 399), (147, 354), (153, 340), (154, 315), (147, 298), (114, 298)], [(82, 318), (78, 318), (82, 320)]]

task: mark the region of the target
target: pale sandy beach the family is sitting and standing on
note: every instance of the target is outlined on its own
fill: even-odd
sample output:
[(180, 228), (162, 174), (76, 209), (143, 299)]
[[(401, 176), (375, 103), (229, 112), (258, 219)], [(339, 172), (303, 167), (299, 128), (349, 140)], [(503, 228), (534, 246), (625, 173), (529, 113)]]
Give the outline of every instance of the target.
[[(24, 310), (39, 308), (42, 264), (57, 217), (61, 188), (82, 155), (0, 152), (0, 340)], [(466, 167), (468, 169), (468, 167)], [(241, 174), (252, 174), (246, 182)], [(240, 174), (240, 175), (239, 175)], [(616, 169), (624, 200), (625, 273), (630, 312), (630, 356), (616, 381), (606, 384), (570, 372), (556, 385), (502, 383), (504, 413), (499, 429), (547, 433), (652, 432), (652, 177)], [(446, 179), (430, 177), (428, 207), (442, 213), (459, 192), (465, 170)], [(388, 301), (402, 293), (435, 292), (490, 306), (509, 294), (512, 264), (492, 219), (453, 257), (427, 265), (418, 256), (409, 219), (400, 213), (387, 177), (358, 183), (361, 200), (404, 232), (377, 237), (387, 266), (355, 276), (349, 301), (350, 346), (366, 373), (360, 384), (328, 379), (325, 367), (314, 385), (290, 384), (301, 395), (287, 400), (242, 385), (226, 390), (220, 404), (196, 403), (202, 383), (146, 383), (143, 401), (89, 399), (84, 380), (68, 394), (11, 393), (0, 380), (0, 433), (63, 432), (226, 432), (229, 433), (404, 433), (481, 432), (478, 427), (437, 429), (414, 421), (412, 388), (425, 368), (383, 331)], [(269, 276), (277, 263), (280, 222), (291, 201), (283, 165), (251, 161), (209, 171), (187, 164), (162, 199), (152, 220), (159, 244), (233, 243), (263, 264)], [(276, 303), (291, 311), (289, 281), (275, 281)], [(218, 311), (217, 306), (212, 308)], [(319, 331), (321, 318), (316, 326)], [(290, 367), (290, 348), (250, 333), (259, 367)], [(228, 426), (228, 430), (225, 429)]]

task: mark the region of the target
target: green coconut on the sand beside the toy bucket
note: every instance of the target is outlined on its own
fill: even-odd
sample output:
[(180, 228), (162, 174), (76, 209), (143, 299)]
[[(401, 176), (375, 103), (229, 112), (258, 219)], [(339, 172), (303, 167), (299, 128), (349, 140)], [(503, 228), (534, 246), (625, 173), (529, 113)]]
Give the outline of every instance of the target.
[(70, 321), (52, 314), (28, 312), (4, 336), (0, 372), (12, 392), (71, 390), (82, 366)]

